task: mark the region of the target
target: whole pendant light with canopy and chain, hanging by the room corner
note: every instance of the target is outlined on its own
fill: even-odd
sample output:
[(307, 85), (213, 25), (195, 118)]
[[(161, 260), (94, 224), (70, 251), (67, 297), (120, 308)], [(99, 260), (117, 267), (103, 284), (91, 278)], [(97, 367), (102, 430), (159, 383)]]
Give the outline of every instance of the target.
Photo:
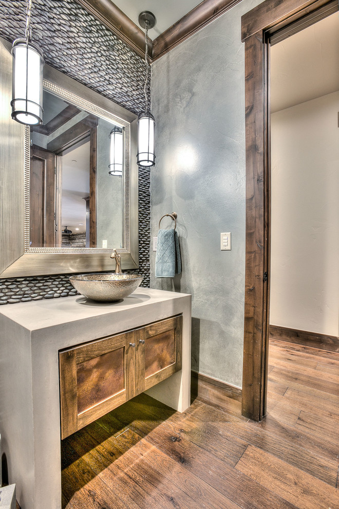
[(155, 165), (155, 119), (150, 113), (150, 90), (148, 87), (148, 71), (149, 64), (147, 60), (148, 46), (147, 35), (148, 29), (155, 26), (156, 19), (154, 14), (149, 11), (143, 11), (139, 14), (139, 25), (145, 28), (145, 63), (146, 78), (144, 86), (145, 94), (145, 110), (138, 116), (138, 153), (137, 163), (141, 168), (150, 168)]

